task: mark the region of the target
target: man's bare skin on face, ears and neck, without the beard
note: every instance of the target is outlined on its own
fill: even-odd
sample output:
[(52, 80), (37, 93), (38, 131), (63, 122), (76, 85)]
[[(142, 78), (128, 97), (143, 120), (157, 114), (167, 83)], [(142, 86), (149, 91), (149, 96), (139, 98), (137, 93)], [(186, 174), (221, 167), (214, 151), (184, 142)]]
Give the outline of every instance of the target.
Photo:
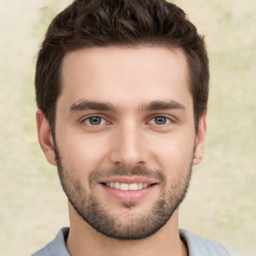
[[(64, 166), (88, 187), (88, 176), (98, 169), (147, 166), (160, 169), (166, 186), (185, 176), (191, 162), (203, 155), (206, 111), (194, 130), (193, 101), (188, 71), (181, 49), (165, 47), (92, 47), (69, 52), (62, 63), (63, 87), (56, 103), (55, 139)], [(84, 100), (109, 102), (114, 109), (70, 107)], [(181, 108), (148, 109), (153, 101), (175, 102)], [(75, 108), (75, 107), (74, 107)], [(91, 125), (89, 116), (105, 121)], [(167, 123), (155, 123), (155, 116)], [(40, 146), (56, 165), (51, 132), (44, 115), (36, 112)], [(94, 193), (104, 209), (120, 221), (148, 212), (160, 194), (161, 184), (130, 208), (95, 184)], [(121, 241), (98, 233), (83, 221), (69, 203), (70, 231), (66, 247), (70, 255), (187, 255), (178, 235), (178, 208), (155, 234), (141, 240)]]

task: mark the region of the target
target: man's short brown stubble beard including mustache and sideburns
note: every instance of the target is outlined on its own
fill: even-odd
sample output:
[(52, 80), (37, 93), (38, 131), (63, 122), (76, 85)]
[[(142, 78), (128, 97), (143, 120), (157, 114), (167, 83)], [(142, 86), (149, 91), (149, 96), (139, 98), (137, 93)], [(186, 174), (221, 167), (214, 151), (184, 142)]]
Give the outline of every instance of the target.
[[(188, 170), (181, 172), (170, 187), (166, 187), (166, 177), (161, 170), (137, 166), (130, 169), (116, 167), (94, 171), (88, 177), (89, 189), (87, 189), (82, 185), (81, 180), (75, 177), (76, 172), (73, 168), (68, 169), (62, 165), (55, 143), (54, 151), (60, 183), (77, 214), (101, 234), (120, 240), (146, 238), (156, 233), (169, 220), (187, 193), (194, 155), (192, 154)], [(125, 217), (121, 218), (119, 215), (113, 215), (111, 210), (105, 209), (96, 193), (93, 193), (93, 181), (103, 175), (141, 175), (156, 178), (160, 180), (160, 194), (154, 201), (151, 210), (145, 213), (137, 214), (132, 211), (137, 202), (121, 202), (120, 206), (127, 209)]]

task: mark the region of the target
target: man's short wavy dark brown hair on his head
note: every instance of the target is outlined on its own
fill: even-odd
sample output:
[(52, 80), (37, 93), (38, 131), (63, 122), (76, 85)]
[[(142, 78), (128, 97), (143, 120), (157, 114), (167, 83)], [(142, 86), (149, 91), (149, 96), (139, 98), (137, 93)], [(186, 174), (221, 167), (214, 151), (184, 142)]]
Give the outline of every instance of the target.
[(207, 108), (208, 58), (203, 36), (184, 11), (165, 0), (75, 0), (52, 20), (36, 63), (36, 103), (53, 133), (63, 56), (83, 47), (109, 45), (182, 48), (197, 130)]

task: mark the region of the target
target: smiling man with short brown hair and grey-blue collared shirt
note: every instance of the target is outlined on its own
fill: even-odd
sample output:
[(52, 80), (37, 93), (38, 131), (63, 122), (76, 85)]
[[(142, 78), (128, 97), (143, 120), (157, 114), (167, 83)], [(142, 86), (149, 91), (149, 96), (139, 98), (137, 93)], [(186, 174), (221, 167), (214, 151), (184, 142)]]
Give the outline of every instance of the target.
[(202, 159), (203, 37), (163, 0), (76, 0), (38, 53), (36, 123), (57, 166), (70, 228), (38, 255), (227, 255), (178, 229)]

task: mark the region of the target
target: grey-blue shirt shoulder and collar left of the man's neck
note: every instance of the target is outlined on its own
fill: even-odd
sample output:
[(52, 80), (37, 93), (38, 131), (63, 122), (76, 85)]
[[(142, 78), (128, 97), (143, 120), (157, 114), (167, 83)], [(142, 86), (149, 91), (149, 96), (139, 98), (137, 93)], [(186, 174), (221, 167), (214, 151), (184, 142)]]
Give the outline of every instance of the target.
[(69, 256), (65, 246), (65, 239), (68, 236), (69, 227), (62, 227), (56, 237), (43, 248), (36, 251), (31, 256)]

